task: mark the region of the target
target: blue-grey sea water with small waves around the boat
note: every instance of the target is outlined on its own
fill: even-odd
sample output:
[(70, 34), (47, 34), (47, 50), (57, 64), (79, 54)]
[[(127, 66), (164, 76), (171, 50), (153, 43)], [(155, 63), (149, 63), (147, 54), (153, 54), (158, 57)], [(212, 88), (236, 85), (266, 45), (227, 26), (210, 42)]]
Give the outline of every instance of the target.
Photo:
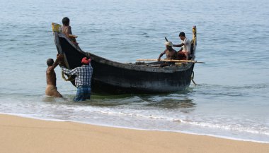
[[(269, 1), (0, 0), (0, 113), (103, 126), (269, 142)], [(46, 60), (56, 57), (51, 23), (71, 19), (81, 49), (107, 59), (154, 59), (164, 37), (198, 29), (195, 82), (170, 94), (45, 97)]]

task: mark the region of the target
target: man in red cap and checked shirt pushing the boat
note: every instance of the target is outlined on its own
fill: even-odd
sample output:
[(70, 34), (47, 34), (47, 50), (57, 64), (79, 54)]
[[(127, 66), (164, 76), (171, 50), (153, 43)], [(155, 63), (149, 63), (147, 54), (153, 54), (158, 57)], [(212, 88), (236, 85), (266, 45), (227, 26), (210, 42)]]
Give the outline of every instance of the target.
[(91, 59), (84, 57), (81, 60), (81, 67), (69, 70), (61, 66), (62, 71), (69, 75), (76, 75), (75, 85), (77, 87), (76, 97), (74, 101), (85, 101), (91, 99), (91, 77), (93, 75), (93, 68), (91, 67)]

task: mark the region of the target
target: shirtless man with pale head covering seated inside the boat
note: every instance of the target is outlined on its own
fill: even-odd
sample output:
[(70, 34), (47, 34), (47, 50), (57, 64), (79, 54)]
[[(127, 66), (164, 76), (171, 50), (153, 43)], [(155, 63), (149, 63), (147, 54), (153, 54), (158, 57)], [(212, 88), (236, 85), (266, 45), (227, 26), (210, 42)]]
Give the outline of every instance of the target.
[[(162, 52), (159, 55), (158, 61), (161, 61), (161, 56), (163, 56), (164, 54), (166, 54), (166, 59), (168, 60), (178, 59), (178, 54), (176, 53), (176, 50), (172, 48), (173, 46), (172, 42), (165, 42), (164, 44), (166, 45), (166, 50), (164, 50), (164, 52)], [(174, 64), (173, 62), (166, 62), (166, 63), (161, 64), (161, 67), (170, 66), (173, 64)]]

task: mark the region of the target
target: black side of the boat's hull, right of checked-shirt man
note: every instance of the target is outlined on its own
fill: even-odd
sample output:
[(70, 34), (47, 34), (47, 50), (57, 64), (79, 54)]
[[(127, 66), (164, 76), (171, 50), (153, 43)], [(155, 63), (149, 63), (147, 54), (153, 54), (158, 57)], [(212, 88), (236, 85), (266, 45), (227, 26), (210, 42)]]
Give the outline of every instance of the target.
[[(93, 61), (94, 92), (107, 93), (166, 93), (185, 90), (190, 85), (193, 66), (176, 73), (135, 71)], [(101, 68), (101, 71), (97, 69)]]

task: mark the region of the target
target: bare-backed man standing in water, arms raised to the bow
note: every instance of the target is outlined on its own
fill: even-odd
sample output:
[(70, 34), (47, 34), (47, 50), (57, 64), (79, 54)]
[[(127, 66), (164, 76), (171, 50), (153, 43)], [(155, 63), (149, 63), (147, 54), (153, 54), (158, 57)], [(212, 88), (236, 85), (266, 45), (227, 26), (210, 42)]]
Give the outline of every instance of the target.
[(57, 87), (56, 87), (55, 68), (56, 66), (58, 66), (58, 62), (59, 62), (58, 55), (55, 62), (53, 61), (53, 59), (47, 59), (47, 71), (46, 71), (47, 87), (45, 90), (45, 94), (47, 96), (62, 97), (62, 94), (60, 94), (57, 91)]

